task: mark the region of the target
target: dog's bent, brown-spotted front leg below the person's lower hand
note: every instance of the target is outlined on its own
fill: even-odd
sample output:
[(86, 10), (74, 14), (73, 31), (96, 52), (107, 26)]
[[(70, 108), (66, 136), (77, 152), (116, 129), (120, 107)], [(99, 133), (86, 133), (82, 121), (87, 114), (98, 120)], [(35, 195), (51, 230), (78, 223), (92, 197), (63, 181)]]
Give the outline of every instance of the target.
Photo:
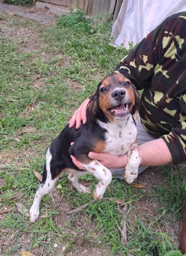
[(104, 165), (100, 164), (99, 161), (93, 160), (89, 164), (82, 164), (88, 172), (94, 175), (99, 182), (94, 188), (94, 199), (99, 200), (103, 197), (103, 194), (106, 191), (107, 186), (112, 180), (112, 173)]

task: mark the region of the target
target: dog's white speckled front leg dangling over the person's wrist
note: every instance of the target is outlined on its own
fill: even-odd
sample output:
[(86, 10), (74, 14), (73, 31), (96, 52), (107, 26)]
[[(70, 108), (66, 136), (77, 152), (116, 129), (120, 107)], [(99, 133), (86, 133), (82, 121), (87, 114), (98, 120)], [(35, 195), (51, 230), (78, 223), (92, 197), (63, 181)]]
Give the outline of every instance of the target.
[(137, 178), (138, 167), (140, 165), (141, 159), (137, 150), (137, 141), (132, 144), (131, 150), (127, 153), (128, 163), (125, 167), (125, 172), (123, 173), (123, 179), (129, 184), (134, 182)]

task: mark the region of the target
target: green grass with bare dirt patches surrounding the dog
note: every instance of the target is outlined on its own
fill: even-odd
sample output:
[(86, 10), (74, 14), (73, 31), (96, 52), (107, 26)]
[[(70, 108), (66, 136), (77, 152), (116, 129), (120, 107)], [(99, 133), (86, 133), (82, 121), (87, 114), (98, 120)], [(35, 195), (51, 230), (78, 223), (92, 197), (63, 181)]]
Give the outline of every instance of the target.
[[(18, 211), (16, 203), (31, 206), (46, 147), (127, 50), (109, 45), (111, 24), (86, 20), (81, 11), (45, 26), (2, 15), (0, 26), (0, 254), (150, 256), (157, 244), (159, 255), (180, 256), (185, 170), (173, 166), (144, 171), (137, 181), (146, 189), (113, 179), (103, 200), (71, 215), (93, 197), (77, 193), (63, 175), (43, 197), (36, 223)], [(93, 191), (97, 181), (82, 182)], [(117, 198), (128, 204), (125, 247)]]

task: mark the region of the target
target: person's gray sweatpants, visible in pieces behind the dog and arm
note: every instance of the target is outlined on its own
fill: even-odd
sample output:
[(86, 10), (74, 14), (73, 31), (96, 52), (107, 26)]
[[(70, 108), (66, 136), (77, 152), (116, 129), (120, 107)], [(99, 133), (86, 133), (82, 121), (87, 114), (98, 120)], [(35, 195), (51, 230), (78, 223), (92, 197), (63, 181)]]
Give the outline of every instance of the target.
[[(136, 126), (137, 126), (137, 140), (138, 145), (141, 145), (147, 141), (153, 141), (156, 138), (152, 135), (149, 135), (149, 133), (146, 132), (146, 130), (143, 128), (143, 125), (141, 124), (140, 117), (136, 120)], [(142, 171), (144, 171), (148, 166), (140, 166), (138, 168), (138, 174), (140, 174)], [(112, 172), (112, 176), (123, 179), (123, 172), (125, 171), (124, 168), (116, 168), (116, 169), (110, 169)]]

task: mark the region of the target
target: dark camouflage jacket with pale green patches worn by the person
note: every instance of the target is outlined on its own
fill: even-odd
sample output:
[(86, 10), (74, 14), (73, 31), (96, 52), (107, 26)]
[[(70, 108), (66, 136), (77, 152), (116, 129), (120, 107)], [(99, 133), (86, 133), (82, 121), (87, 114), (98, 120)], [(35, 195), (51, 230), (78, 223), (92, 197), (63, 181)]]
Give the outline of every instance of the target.
[(114, 72), (143, 89), (140, 118), (146, 131), (163, 138), (174, 164), (186, 161), (186, 12), (166, 18)]

